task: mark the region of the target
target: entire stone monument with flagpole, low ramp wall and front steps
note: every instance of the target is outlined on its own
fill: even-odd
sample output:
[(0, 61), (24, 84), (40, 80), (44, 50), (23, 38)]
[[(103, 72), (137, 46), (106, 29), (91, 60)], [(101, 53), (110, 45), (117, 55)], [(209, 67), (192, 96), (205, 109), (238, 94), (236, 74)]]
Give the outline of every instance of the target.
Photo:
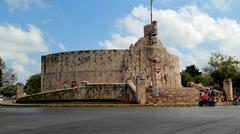
[[(84, 96), (84, 99), (127, 99), (140, 104), (195, 103), (198, 92), (182, 88), (179, 59), (168, 53), (158, 39), (157, 21), (151, 19), (143, 32), (144, 37), (125, 50), (84, 50), (42, 56), (41, 92), (45, 97), (41, 94), (37, 97), (59, 99), (62, 97), (51, 95), (59, 92), (64, 99)], [(64, 83), (73, 81), (81, 88), (81, 94), (62, 90)], [(151, 94), (155, 88), (150, 86), (158, 87), (158, 100)]]

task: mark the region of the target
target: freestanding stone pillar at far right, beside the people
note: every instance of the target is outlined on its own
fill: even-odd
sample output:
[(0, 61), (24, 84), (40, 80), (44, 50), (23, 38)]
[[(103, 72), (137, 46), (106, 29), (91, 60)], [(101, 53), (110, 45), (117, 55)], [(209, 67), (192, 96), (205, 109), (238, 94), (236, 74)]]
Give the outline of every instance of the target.
[(231, 79), (226, 79), (223, 81), (223, 89), (226, 93), (227, 101), (233, 101), (233, 89)]

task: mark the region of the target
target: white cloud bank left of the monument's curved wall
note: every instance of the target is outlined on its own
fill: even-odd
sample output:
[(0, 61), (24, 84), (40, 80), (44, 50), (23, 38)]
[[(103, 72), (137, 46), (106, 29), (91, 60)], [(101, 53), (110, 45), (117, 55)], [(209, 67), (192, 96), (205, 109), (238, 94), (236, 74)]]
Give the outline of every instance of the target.
[(28, 30), (25, 31), (14, 25), (0, 25), (0, 56), (12, 64), (11, 68), (21, 82), (32, 73), (26, 68), (34, 67), (37, 63), (29, 54), (47, 51), (44, 35), (36, 26), (28, 25)]

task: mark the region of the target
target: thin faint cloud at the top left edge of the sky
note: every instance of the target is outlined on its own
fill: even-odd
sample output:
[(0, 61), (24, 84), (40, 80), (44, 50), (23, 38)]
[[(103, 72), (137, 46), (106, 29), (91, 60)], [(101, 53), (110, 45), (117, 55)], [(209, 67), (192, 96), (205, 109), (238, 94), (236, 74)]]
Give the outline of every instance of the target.
[(9, 6), (10, 11), (16, 9), (28, 10), (31, 5), (46, 8), (47, 4), (43, 0), (4, 0)]

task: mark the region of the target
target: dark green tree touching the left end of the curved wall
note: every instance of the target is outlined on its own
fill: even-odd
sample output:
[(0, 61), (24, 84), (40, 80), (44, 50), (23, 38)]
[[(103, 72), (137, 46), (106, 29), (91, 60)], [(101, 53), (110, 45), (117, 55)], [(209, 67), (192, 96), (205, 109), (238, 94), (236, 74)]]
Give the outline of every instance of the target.
[(41, 75), (32, 75), (24, 86), (24, 92), (26, 94), (35, 94), (41, 91)]

